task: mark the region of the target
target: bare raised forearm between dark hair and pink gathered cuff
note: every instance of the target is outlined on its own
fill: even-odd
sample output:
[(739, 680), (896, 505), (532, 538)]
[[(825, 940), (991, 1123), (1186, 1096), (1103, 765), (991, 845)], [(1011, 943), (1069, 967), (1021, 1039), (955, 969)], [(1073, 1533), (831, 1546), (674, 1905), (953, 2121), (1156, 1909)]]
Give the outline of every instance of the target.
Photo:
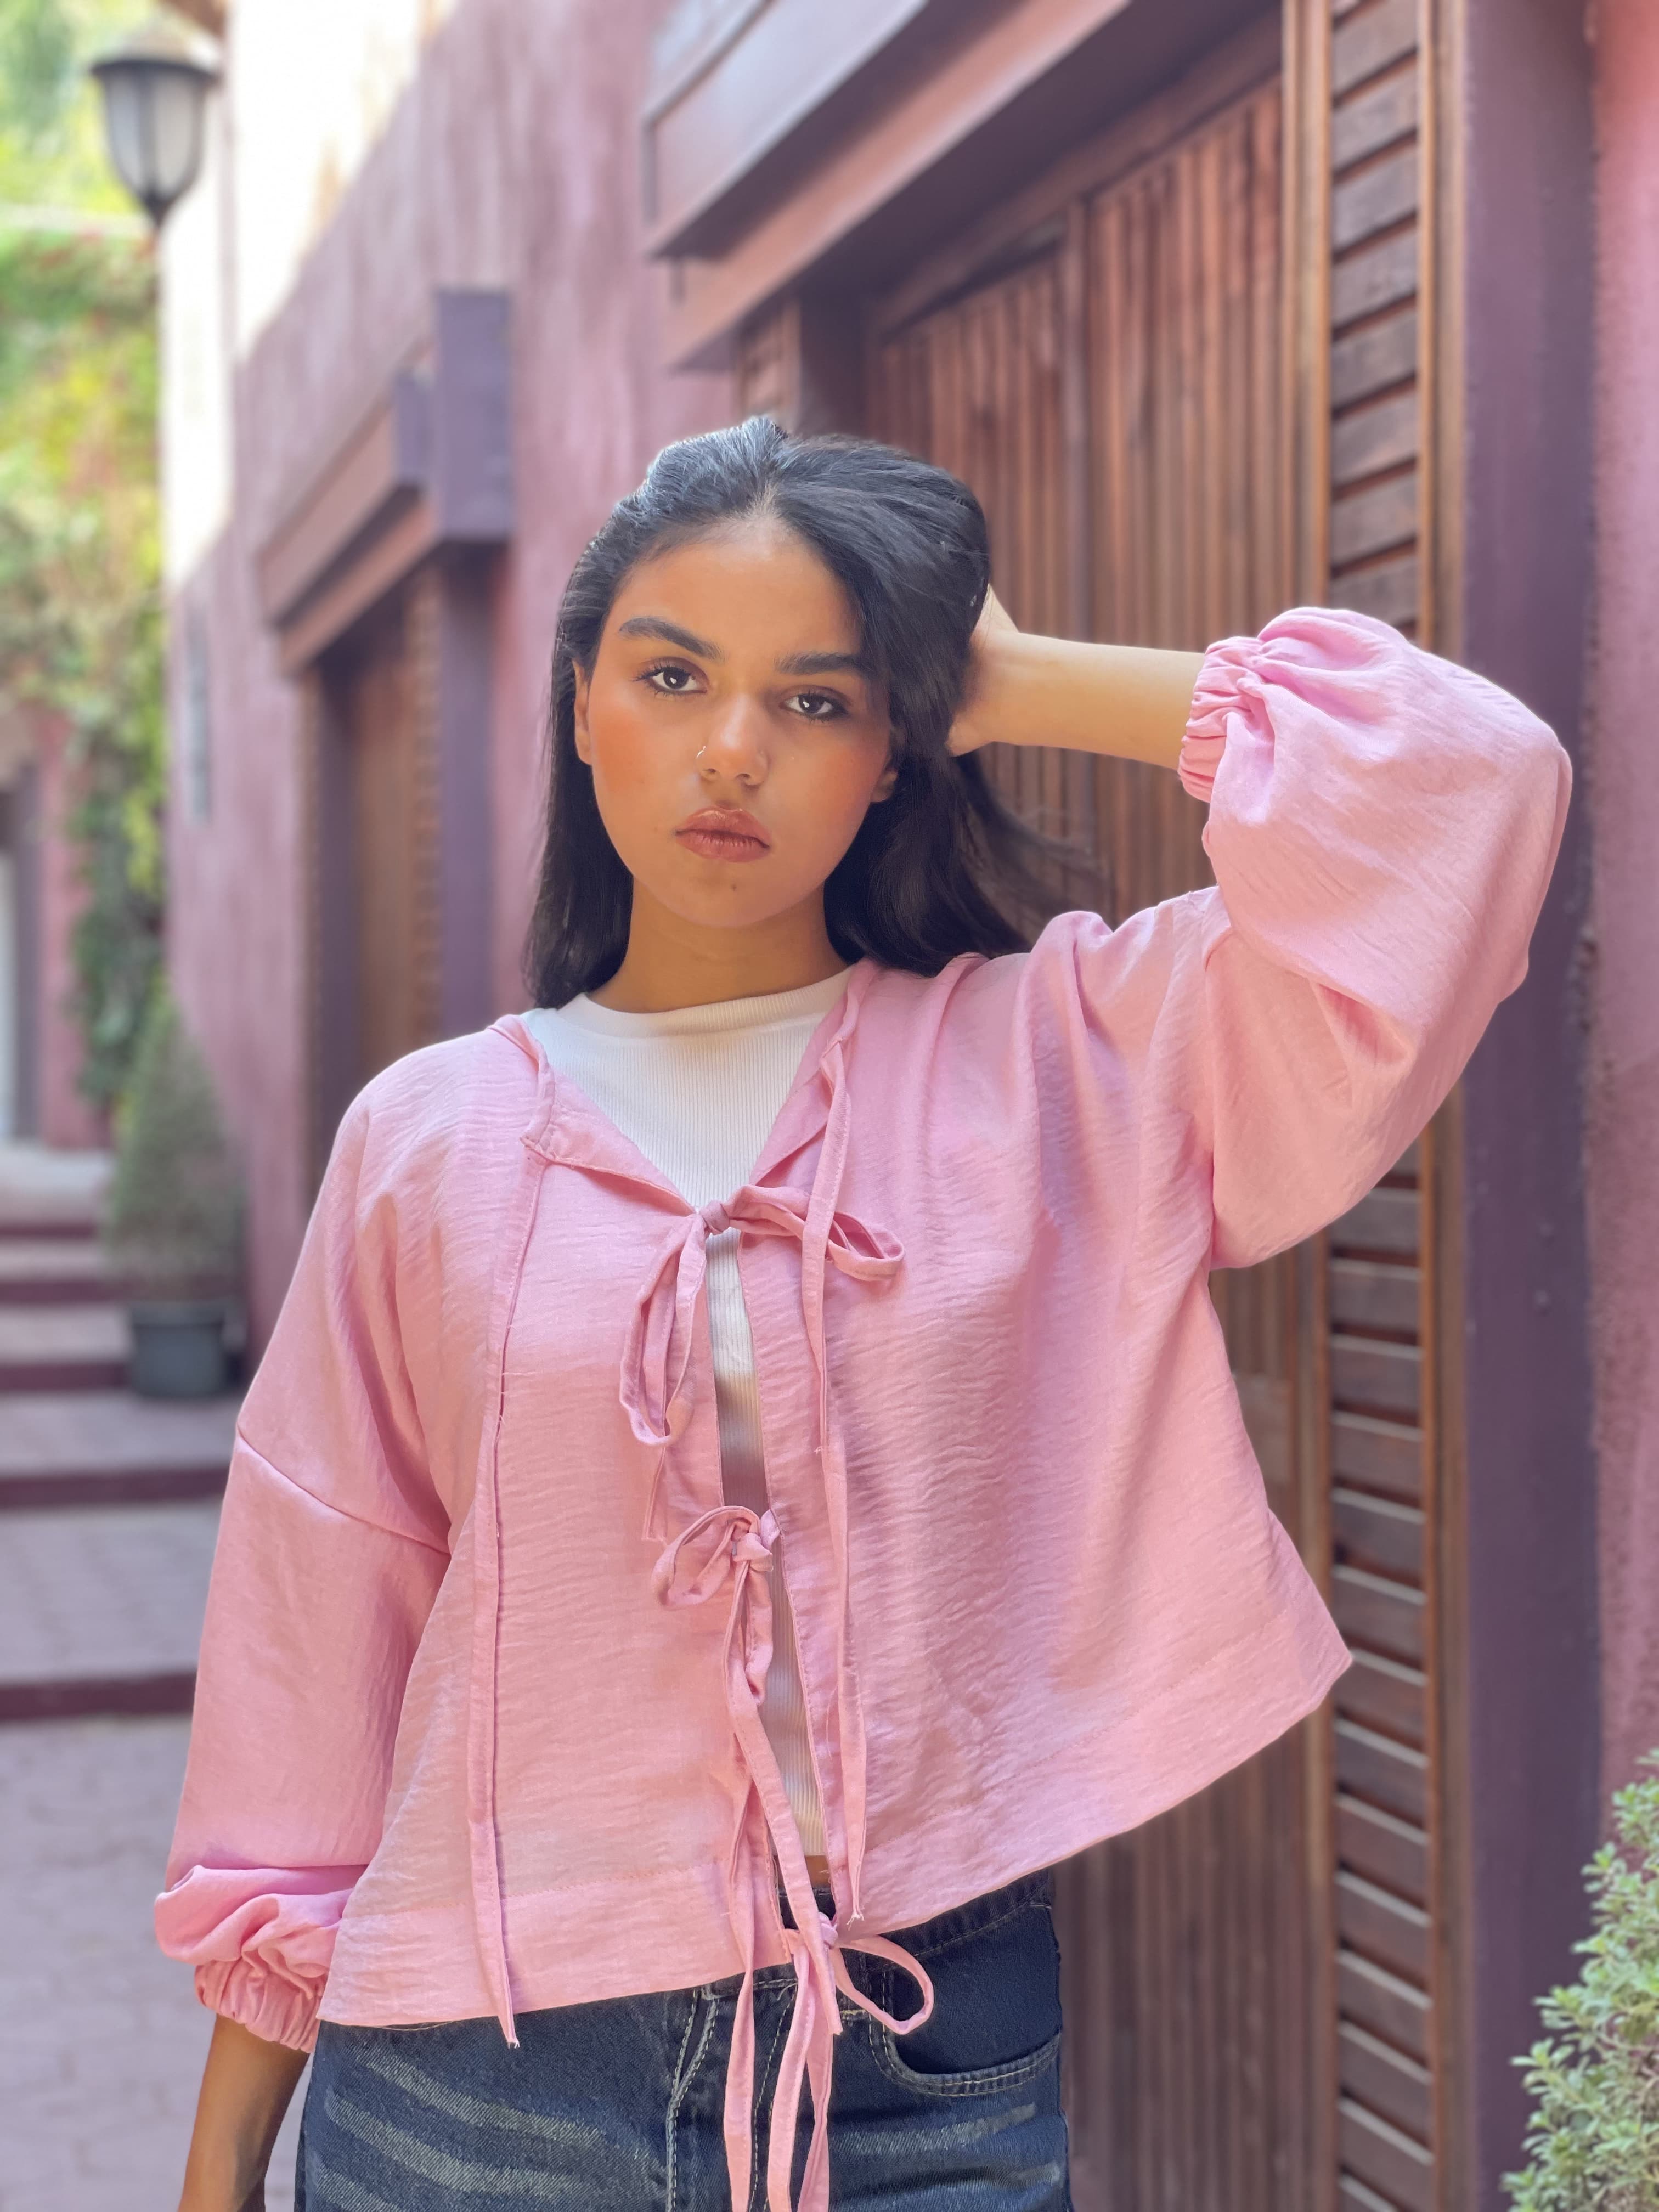
[(960, 717), (971, 745), (1062, 745), (1175, 768), (1201, 653), (993, 630)]

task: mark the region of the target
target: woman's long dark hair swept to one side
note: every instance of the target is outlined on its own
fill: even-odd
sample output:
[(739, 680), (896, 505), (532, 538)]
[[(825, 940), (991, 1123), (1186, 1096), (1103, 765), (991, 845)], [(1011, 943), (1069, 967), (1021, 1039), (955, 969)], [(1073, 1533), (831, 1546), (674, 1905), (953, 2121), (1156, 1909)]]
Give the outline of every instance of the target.
[(768, 416), (681, 438), (619, 500), (577, 560), (553, 644), (551, 790), (524, 958), (538, 1006), (615, 975), (633, 878), (606, 836), (575, 750), (575, 677), (593, 670), (624, 577), (653, 553), (772, 518), (838, 577), (860, 653), (885, 686), (898, 781), (872, 805), (823, 887), (843, 960), (936, 975), (956, 953), (1020, 951), (1020, 920), (1053, 911), (1051, 847), (995, 796), (975, 754), (947, 752), (991, 555), (967, 484), (865, 438), (794, 438)]

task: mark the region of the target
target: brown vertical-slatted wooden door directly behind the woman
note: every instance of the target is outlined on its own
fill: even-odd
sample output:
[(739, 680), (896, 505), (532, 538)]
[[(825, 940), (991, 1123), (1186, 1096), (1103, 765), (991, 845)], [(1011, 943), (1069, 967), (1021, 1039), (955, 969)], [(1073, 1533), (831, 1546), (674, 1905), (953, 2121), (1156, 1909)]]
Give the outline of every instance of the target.
[[(1279, 131), (1279, 84), (1259, 82), (1068, 195), (995, 274), (878, 316), (874, 427), (975, 487), (1020, 624), (1197, 648), (1285, 604)], [(1212, 880), (1203, 807), (1168, 772), (1044, 750), (989, 765), (1097, 869), (1108, 918)], [(1274, 1511), (1318, 1553), (1305, 1274), (1287, 1256), (1214, 1296)], [(1312, 1723), (1062, 1869), (1079, 2212), (1323, 2203), (1323, 1741)]]

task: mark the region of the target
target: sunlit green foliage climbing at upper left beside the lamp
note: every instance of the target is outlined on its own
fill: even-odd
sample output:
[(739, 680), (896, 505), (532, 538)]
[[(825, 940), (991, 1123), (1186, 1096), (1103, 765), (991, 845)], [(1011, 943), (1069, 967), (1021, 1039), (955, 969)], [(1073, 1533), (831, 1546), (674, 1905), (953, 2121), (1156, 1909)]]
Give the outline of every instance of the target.
[(66, 732), (80, 1088), (122, 1095), (159, 973), (155, 254), (82, 64), (144, 0), (0, 0), (0, 714)]

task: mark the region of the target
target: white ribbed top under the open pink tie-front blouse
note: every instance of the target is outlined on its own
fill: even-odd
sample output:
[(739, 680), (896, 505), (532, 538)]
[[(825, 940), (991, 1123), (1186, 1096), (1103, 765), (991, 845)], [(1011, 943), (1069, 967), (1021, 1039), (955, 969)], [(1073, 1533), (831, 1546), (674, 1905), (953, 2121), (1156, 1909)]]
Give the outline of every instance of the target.
[[(730, 998), (675, 1013), (615, 1013), (591, 998), (524, 1015), (553, 1071), (577, 1084), (690, 1206), (730, 1199), (754, 1172), (801, 1055), (847, 989), (847, 969), (805, 991)], [(708, 1336), (726, 1502), (763, 1513), (761, 1398), (737, 1272), (737, 1230), (708, 1239)], [(779, 1544), (779, 1551), (783, 1546)], [(761, 1721), (790, 1792), (807, 1856), (823, 1856), (794, 1615), (783, 1571), (772, 1575), (772, 1666)]]

